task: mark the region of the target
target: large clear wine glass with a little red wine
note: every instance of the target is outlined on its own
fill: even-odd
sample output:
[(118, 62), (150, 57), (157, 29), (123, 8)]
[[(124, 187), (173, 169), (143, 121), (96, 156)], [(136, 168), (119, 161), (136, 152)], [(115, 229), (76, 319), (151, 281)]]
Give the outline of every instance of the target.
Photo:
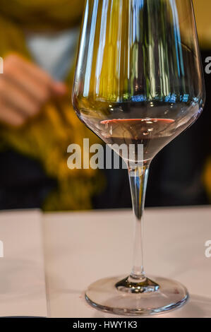
[(128, 165), (135, 215), (133, 268), (126, 278), (92, 283), (85, 292), (92, 307), (116, 314), (158, 314), (188, 299), (180, 283), (145, 274), (143, 210), (152, 158), (198, 119), (204, 102), (191, 0), (87, 0), (73, 107), (113, 148), (115, 143), (143, 146), (143, 160), (133, 153), (132, 166), (119, 150)]

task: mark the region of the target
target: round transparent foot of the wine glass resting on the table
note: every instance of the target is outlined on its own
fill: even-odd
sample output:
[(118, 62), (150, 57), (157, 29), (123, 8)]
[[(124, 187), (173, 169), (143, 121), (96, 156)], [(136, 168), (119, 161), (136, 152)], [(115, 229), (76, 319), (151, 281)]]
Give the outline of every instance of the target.
[(169, 312), (188, 300), (186, 287), (174, 280), (152, 277), (150, 281), (159, 285), (154, 292), (135, 293), (116, 287), (122, 279), (114, 277), (97, 280), (88, 287), (85, 299), (95, 309), (131, 316)]

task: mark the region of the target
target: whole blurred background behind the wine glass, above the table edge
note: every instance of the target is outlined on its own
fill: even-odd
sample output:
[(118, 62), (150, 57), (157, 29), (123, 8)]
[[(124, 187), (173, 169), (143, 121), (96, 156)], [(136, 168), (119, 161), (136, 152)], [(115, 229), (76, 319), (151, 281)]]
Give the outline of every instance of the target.
[[(0, 0), (0, 209), (128, 208), (126, 170), (69, 170), (67, 147), (97, 137), (71, 107), (84, 0)], [(211, 57), (211, 2), (194, 0), (202, 54)], [(146, 206), (211, 201), (211, 73), (200, 119), (152, 161)]]

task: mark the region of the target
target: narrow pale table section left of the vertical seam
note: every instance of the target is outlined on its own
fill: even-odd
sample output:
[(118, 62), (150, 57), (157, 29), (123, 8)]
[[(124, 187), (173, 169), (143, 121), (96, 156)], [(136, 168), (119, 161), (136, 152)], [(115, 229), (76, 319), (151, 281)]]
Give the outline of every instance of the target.
[(0, 316), (47, 316), (42, 213), (0, 213)]

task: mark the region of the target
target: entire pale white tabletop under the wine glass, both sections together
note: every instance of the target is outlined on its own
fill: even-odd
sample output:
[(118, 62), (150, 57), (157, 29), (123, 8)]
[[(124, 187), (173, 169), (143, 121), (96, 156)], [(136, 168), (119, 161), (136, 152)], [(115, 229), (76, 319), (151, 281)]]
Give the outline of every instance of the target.
[[(209, 206), (145, 212), (145, 270), (179, 280), (191, 294), (183, 308), (157, 317), (211, 317), (210, 239)], [(84, 291), (130, 271), (131, 211), (3, 212), (0, 240), (0, 316), (116, 317), (88, 306)]]

